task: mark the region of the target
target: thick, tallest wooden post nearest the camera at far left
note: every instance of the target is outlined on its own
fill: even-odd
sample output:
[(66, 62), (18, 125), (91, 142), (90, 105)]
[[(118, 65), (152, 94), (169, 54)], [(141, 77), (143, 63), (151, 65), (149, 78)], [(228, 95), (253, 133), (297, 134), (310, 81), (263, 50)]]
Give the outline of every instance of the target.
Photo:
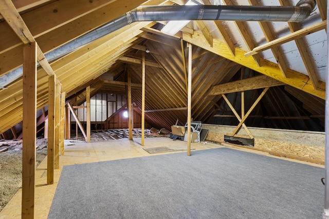
[(36, 42), (23, 48), (22, 218), (34, 218), (36, 48)]

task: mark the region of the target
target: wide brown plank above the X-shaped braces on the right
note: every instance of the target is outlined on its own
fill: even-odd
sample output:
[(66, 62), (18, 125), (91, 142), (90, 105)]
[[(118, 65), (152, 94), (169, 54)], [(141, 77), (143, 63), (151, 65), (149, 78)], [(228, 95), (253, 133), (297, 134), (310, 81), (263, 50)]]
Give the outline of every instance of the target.
[(208, 95), (221, 95), (246, 90), (284, 85), (284, 83), (266, 75), (260, 75), (242, 79), (240, 81), (229, 82), (222, 85), (213, 86)]

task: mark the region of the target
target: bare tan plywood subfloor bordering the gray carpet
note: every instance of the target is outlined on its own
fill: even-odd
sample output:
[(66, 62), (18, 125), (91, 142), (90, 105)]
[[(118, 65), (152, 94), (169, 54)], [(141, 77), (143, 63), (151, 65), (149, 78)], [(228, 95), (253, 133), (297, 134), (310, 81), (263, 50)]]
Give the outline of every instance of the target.
[[(143, 150), (141, 138), (134, 138), (134, 141), (127, 139), (106, 141), (106, 142), (74, 142), (75, 145), (65, 146), (65, 153), (60, 156), (60, 169), (54, 171), (54, 184), (46, 185), (47, 182), (47, 158), (36, 169), (36, 188), (35, 188), (35, 207), (34, 218), (47, 218), (56, 187), (61, 175), (63, 166), (93, 163), (101, 161), (120, 160), (141, 156), (154, 156)], [(145, 138), (144, 147), (162, 147), (162, 146), (181, 146), (187, 144), (182, 141), (173, 141), (168, 137)], [(193, 143), (195, 150), (206, 150), (223, 147), (217, 144)], [(232, 147), (234, 148), (234, 147)], [(234, 148), (239, 149), (239, 148)], [(248, 149), (241, 149), (248, 151)], [(193, 150), (194, 151), (194, 150)], [(191, 155), (193, 156), (193, 151)], [(253, 152), (250, 151), (249, 152)], [(168, 152), (168, 153), (186, 153), (186, 152)], [(259, 152), (258, 152), (259, 153)], [(165, 154), (165, 153), (159, 153)], [(263, 154), (268, 155), (268, 154)], [(288, 160), (285, 158), (285, 160)], [(302, 163), (302, 162), (300, 162)], [(320, 167), (323, 167), (320, 165)], [(72, 185), (74, 186), (74, 185)], [(21, 218), (22, 189), (20, 189), (11, 201), (0, 212), (0, 219)], [(78, 203), (77, 203), (78, 204)]]

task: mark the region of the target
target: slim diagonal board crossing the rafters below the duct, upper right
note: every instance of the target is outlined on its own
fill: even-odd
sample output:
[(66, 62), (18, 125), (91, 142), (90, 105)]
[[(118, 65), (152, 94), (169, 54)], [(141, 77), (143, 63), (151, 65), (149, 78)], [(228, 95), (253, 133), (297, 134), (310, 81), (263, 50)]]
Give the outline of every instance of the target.
[(283, 37), (274, 39), (273, 41), (270, 41), (266, 44), (255, 47), (250, 52), (246, 52), (245, 56), (248, 57), (250, 55), (257, 54), (257, 53), (265, 51), (267, 49), (280, 46), (280, 45), (285, 44), (285, 43), (290, 42), (290, 41), (294, 41), (295, 39), (301, 38), (301, 37), (306, 36), (308, 34), (315, 33), (317, 31), (323, 30), (323, 29), (326, 28), (326, 25), (327, 25), (327, 21), (325, 20), (325, 21), (316, 23), (314, 25), (311, 25), (309, 27), (303, 28), (301, 30), (297, 30), (297, 31), (292, 32), (290, 34), (287, 34)]

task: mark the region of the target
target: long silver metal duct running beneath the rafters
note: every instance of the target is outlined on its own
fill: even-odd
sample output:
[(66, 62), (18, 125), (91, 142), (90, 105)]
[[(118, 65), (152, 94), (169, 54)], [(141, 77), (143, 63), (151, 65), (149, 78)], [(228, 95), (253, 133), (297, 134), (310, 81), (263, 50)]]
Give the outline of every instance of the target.
[[(315, 0), (301, 0), (294, 6), (139, 6), (113, 19), (102, 27), (74, 39), (45, 54), (48, 62), (112, 33), (126, 25), (142, 21), (267, 21), (301, 22), (315, 8)], [(17, 68), (0, 77), (0, 88), (4, 88), (22, 76), (23, 68)]]

